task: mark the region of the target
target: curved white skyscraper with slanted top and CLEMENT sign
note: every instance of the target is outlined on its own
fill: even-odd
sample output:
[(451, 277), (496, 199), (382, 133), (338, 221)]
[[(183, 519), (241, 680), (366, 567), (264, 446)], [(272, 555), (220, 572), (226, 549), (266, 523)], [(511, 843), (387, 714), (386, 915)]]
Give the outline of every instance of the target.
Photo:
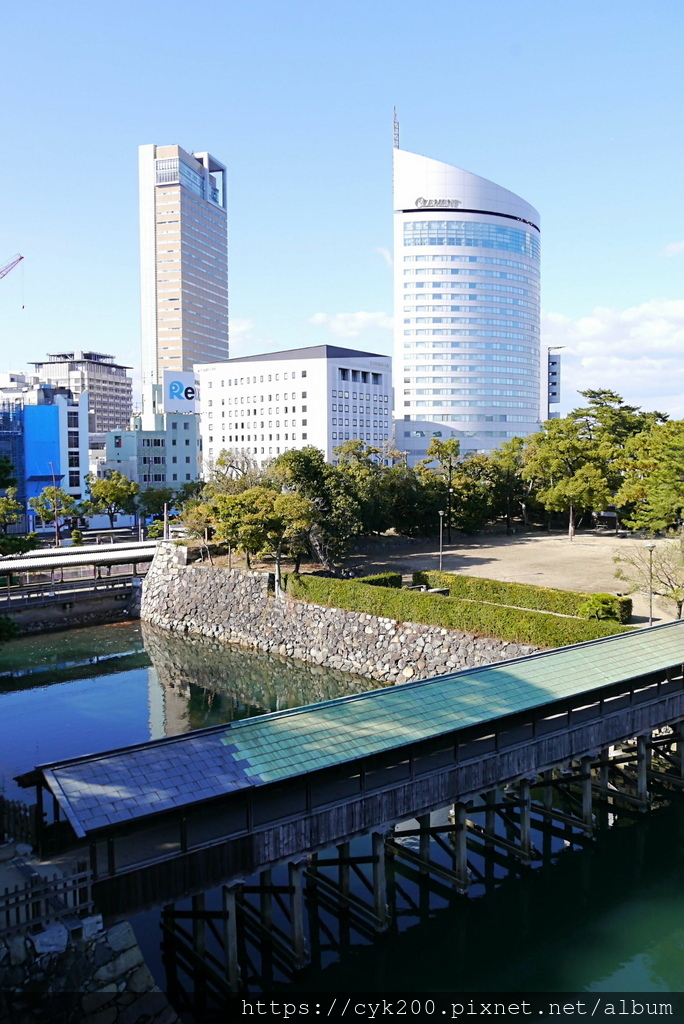
[(396, 444), (488, 451), (540, 423), (540, 215), (476, 174), (394, 150)]

